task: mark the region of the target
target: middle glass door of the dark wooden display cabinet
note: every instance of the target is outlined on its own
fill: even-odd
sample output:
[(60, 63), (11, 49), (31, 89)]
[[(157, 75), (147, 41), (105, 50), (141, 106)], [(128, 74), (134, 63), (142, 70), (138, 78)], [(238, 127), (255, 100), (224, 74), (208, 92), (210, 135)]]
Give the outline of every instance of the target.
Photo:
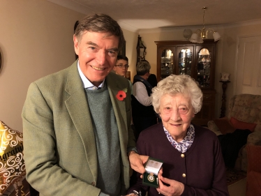
[(193, 75), (193, 47), (177, 47), (177, 75)]

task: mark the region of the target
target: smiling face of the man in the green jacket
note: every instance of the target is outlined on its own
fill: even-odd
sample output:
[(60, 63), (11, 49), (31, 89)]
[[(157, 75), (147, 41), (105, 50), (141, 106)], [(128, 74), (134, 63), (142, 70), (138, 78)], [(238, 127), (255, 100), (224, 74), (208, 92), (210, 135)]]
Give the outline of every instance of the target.
[(81, 40), (73, 36), (73, 42), (82, 73), (92, 84), (100, 85), (116, 63), (119, 38), (86, 31)]

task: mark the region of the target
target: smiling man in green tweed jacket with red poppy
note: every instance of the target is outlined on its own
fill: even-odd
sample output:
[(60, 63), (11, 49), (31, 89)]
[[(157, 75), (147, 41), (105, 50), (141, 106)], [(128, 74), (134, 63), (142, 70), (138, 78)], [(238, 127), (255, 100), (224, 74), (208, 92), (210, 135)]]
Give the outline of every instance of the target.
[(128, 158), (140, 173), (147, 160), (135, 153), (128, 81), (110, 73), (124, 35), (110, 16), (94, 14), (80, 20), (73, 42), (79, 59), (29, 86), (22, 111), (27, 181), (45, 196), (124, 195)]

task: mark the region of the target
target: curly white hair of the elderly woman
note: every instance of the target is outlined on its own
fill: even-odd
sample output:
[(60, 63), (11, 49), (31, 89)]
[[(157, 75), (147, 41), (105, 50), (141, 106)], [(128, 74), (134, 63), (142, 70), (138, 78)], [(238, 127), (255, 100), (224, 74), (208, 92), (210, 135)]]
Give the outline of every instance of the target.
[(174, 96), (183, 93), (191, 98), (194, 113), (200, 112), (202, 107), (203, 93), (197, 83), (189, 75), (170, 75), (158, 82), (152, 89), (151, 102), (156, 113), (159, 113), (161, 98), (166, 94)]

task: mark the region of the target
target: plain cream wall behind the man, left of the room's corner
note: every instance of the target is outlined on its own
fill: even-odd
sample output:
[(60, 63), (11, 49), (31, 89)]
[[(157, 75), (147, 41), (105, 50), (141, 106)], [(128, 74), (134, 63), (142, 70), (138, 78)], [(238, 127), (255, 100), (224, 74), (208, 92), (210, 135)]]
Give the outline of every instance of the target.
[[(73, 27), (84, 15), (45, 0), (3, 0), (0, 16), (0, 120), (22, 131), (29, 84), (75, 61)], [(133, 69), (137, 33), (123, 31)]]

